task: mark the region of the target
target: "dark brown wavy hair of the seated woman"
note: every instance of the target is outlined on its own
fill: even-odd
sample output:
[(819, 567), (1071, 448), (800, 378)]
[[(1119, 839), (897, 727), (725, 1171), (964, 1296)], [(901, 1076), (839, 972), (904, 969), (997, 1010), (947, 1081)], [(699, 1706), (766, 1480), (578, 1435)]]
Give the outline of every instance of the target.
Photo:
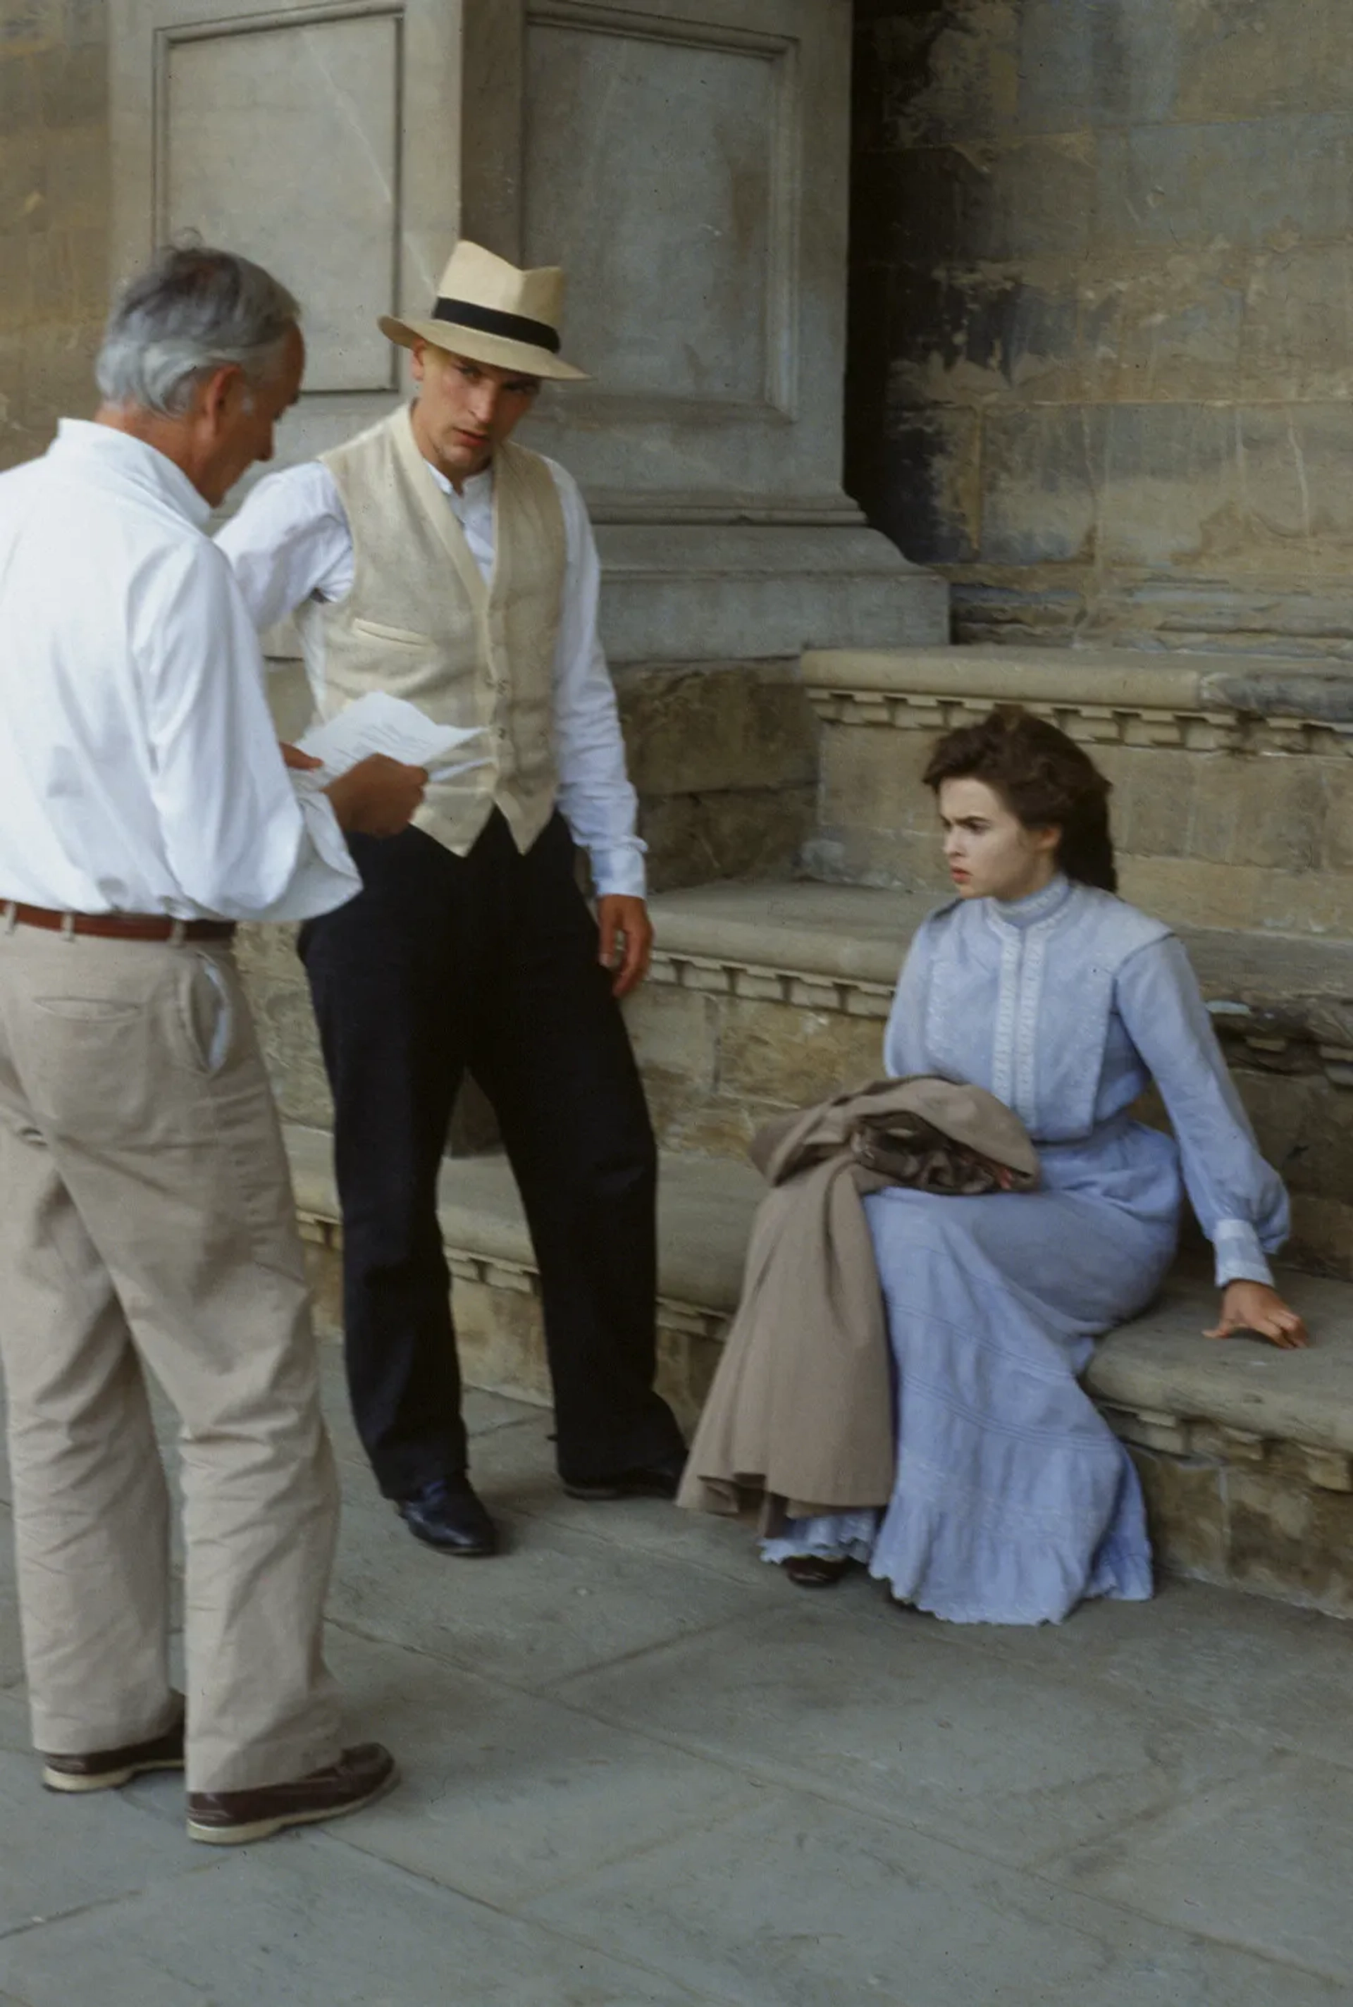
[(925, 787), (984, 781), (1026, 829), (1060, 829), (1058, 869), (1082, 885), (1118, 891), (1108, 835), (1108, 789), (1088, 753), (1020, 704), (998, 704), (980, 725), (945, 733), (929, 755)]

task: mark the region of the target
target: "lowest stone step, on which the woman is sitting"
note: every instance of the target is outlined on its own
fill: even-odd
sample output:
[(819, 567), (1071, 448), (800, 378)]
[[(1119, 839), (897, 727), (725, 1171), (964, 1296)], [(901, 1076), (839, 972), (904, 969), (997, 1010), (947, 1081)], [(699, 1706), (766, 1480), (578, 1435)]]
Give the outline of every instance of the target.
[[(321, 1325), (337, 1323), (337, 1196), (329, 1138), (287, 1130)], [(693, 1425), (737, 1305), (757, 1176), (664, 1156), (660, 1385)], [(956, 1200), (962, 1204), (962, 1200)], [(472, 1385), (548, 1401), (536, 1264), (500, 1158), (448, 1162), (442, 1230)], [(1100, 1345), (1086, 1385), (1142, 1473), (1164, 1567), (1353, 1616), (1353, 1288), (1285, 1276), (1309, 1353), (1202, 1339), (1214, 1295), (1180, 1272)]]

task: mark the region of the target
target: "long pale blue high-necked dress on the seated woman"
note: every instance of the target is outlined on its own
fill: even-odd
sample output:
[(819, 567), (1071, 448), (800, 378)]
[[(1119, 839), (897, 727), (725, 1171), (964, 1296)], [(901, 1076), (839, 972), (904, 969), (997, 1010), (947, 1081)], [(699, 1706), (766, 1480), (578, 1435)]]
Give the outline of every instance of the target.
[[(1148, 1598), (1136, 1471), (1078, 1375), (1158, 1291), (1184, 1192), (1219, 1284), (1269, 1282), (1265, 1250), (1289, 1228), (1184, 949), (1064, 877), (1014, 905), (956, 901), (915, 935), (883, 1060), (990, 1088), (1038, 1144), (1042, 1184), (865, 1200), (895, 1363), (893, 1495), (881, 1513), (791, 1519), (763, 1553), (851, 1555), (956, 1624)], [(1128, 1114), (1150, 1080), (1172, 1136)]]

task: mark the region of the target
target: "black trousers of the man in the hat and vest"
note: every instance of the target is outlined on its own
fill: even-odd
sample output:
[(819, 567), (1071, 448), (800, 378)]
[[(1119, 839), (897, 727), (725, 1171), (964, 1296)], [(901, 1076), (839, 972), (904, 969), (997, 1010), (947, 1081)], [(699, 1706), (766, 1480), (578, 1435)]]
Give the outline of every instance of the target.
[(438, 1170), (466, 1068), (540, 1266), (564, 1475), (681, 1449), (654, 1377), (656, 1152), (562, 817), (522, 855), (351, 837), (361, 893), (301, 929), (333, 1088), (347, 1385), (387, 1497), (466, 1469)]

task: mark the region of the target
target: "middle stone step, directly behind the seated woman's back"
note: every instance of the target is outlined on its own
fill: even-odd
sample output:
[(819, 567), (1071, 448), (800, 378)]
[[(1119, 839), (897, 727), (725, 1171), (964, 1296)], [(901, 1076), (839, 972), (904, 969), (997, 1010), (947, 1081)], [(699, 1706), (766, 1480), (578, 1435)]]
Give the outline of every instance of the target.
[[(757, 1126), (881, 1072), (927, 893), (729, 883), (654, 899), (628, 1022), (668, 1148), (741, 1156)], [(1259, 1138), (1293, 1190), (1293, 1258), (1353, 1272), (1353, 941), (1182, 927)]]

